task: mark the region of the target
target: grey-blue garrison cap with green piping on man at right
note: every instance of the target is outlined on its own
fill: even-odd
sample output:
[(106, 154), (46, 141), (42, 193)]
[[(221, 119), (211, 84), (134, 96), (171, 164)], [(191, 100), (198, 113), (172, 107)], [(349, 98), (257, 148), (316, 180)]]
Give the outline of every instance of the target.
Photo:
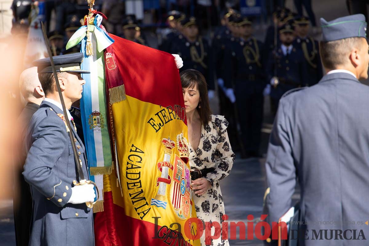
[(363, 14), (354, 14), (326, 21), (320, 18), (322, 41), (334, 41), (344, 38), (366, 38), (366, 21)]

